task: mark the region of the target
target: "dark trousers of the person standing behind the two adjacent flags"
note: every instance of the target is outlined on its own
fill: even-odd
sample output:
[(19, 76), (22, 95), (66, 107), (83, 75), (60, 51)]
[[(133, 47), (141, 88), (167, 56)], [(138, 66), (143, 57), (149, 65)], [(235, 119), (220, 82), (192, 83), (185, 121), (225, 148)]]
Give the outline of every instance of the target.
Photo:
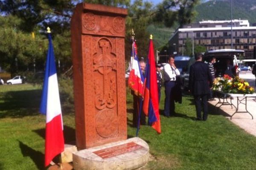
[[(136, 96), (135, 94), (133, 95), (134, 99), (134, 111), (133, 111), (133, 118), (132, 118), (132, 124), (134, 127), (137, 127), (138, 125), (138, 117), (139, 117), (139, 110), (140, 110), (140, 97)], [(140, 125), (145, 125), (146, 120), (145, 120), (145, 114), (143, 111), (141, 111), (140, 115)]]

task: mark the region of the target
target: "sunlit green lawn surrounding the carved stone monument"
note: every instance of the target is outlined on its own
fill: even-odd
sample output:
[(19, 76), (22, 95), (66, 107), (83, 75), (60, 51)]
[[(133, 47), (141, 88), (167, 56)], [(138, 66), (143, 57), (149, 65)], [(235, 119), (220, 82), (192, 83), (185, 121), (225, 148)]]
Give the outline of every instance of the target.
[[(45, 116), (38, 113), (41, 87), (0, 86), (0, 170), (44, 170)], [(164, 93), (160, 102), (163, 113)], [(72, 107), (67, 107), (72, 108)], [(183, 96), (176, 116), (161, 115), (162, 134), (142, 126), (151, 161), (145, 170), (254, 170), (256, 137), (226, 119), (213, 106), (206, 122), (195, 121), (192, 97)], [(65, 141), (75, 139), (73, 109), (62, 108)], [(132, 97), (127, 93), (128, 137), (134, 137)]]

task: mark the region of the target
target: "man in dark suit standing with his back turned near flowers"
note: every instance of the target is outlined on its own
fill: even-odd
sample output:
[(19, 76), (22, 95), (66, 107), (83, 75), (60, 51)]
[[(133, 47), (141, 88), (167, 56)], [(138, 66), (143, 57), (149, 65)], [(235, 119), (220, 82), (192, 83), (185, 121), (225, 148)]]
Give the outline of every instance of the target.
[[(196, 62), (190, 66), (189, 71), (189, 91), (194, 96), (197, 120), (207, 120), (208, 105), (207, 96), (212, 88), (212, 75), (210, 74), (209, 66), (202, 62), (202, 54), (195, 56)], [(203, 119), (201, 115), (203, 104)]]

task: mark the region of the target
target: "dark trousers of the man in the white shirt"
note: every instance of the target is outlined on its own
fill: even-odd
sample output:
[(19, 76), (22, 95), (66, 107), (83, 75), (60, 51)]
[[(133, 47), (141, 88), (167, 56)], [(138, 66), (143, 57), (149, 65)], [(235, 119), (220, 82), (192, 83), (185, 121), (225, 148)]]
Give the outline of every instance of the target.
[(165, 85), (165, 95), (166, 98), (164, 100), (164, 114), (165, 116), (170, 116), (175, 113), (175, 102), (174, 102), (174, 81), (166, 81)]

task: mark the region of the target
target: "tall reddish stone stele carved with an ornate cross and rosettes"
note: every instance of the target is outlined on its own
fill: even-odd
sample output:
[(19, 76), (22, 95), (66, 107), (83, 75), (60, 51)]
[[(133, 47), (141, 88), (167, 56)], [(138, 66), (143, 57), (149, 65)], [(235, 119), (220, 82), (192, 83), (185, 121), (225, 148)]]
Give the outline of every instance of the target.
[(127, 10), (80, 3), (71, 20), (76, 146), (127, 139), (125, 16)]

